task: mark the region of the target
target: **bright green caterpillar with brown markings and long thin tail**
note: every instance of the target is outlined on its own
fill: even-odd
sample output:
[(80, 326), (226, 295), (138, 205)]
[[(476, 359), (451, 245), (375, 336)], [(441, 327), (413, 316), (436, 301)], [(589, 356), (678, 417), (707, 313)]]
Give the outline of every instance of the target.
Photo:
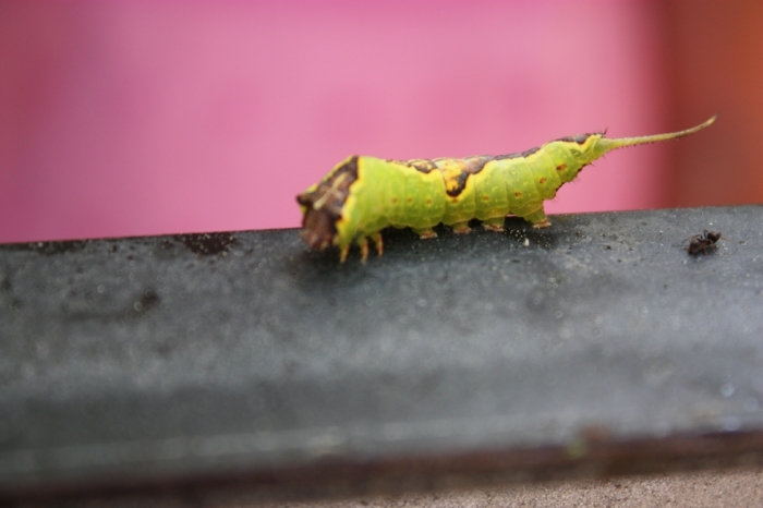
[(535, 228), (550, 226), (543, 202), (574, 180), (585, 166), (623, 146), (675, 140), (711, 125), (718, 116), (685, 131), (641, 137), (608, 138), (606, 132), (550, 141), (508, 155), (392, 160), (353, 155), (318, 183), (296, 196), (303, 214), (302, 239), (313, 249), (339, 249), (344, 263), (356, 243), (361, 261), (368, 240), (384, 252), (380, 231), (410, 227), (420, 238), (434, 238), (433, 227), (468, 233), (480, 219), (491, 231), (504, 230), (508, 214)]

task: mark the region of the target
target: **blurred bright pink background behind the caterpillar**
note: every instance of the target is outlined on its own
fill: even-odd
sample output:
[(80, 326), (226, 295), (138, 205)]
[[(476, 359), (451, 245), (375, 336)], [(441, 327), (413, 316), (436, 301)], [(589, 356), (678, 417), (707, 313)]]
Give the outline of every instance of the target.
[[(718, 107), (676, 124), (665, 19), (642, 1), (3, 2), (0, 242), (290, 228), (295, 194), (350, 154), (688, 128)], [(673, 206), (670, 149), (613, 154), (547, 209)]]

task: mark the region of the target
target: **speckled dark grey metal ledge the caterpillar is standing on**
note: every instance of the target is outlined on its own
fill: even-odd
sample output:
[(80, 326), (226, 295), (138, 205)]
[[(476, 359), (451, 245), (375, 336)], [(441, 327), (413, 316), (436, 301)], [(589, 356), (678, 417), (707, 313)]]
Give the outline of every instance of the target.
[(0, 499), (758, 460), (763, 206), (552, 221), (0, 245)]

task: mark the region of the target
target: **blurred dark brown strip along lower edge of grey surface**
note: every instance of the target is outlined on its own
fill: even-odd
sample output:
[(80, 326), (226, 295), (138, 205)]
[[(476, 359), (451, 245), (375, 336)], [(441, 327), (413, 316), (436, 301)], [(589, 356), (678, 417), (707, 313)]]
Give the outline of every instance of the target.
[[(62, 501), (199, 506), (398, 495), (510, 483), (607, 479), (763, 464), (763, 431), (621, 440), (591, 428), (565, 447), (514, 448), (377, 461), (323, 457), (310, 464), (0, 491), (0, 504)], [(137, 500), (136, 500), (137, 499)]]

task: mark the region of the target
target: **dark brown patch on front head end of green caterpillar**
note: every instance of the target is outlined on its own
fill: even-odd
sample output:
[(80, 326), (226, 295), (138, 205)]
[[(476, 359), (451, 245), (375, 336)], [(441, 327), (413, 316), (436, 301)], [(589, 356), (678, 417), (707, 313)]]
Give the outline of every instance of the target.
[(326, 249), (337, 234), (337, 221), (350, 194), (350, 185), (358, 180), (358, 156), (353, 156), (338, 168), (326, 181), (312, 192), (296, 196), (296, 202), (306, 207), (302, 220), (302, 238), (314, 249)]

